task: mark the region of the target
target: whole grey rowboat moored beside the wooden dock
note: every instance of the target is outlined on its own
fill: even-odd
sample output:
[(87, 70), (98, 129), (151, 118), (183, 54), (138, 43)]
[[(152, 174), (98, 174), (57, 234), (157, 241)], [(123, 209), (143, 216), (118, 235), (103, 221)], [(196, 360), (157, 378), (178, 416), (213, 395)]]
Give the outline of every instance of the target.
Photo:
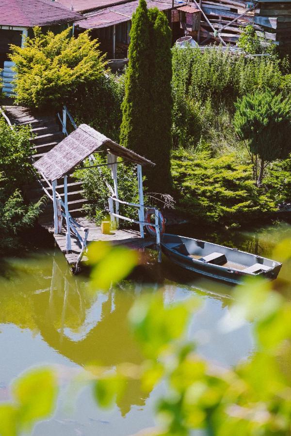
[(279, 262), (176, 234), (163, 234), (163, 252), (176, 264), (214, 279), (240, 283), (247, 276), (275, 279)]

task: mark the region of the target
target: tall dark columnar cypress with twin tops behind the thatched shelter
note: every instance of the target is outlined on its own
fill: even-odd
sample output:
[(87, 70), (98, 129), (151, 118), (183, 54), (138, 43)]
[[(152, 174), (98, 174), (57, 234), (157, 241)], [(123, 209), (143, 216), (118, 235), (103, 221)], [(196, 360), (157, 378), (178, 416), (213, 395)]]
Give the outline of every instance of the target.
[(167, 18), (157, 8), (147, 11), (146, 1), (140, 0), (130, 31), (120, 140), (157, 164), (145, 168), (147, 187), (154, 192), (171, 189), (171, 78)]

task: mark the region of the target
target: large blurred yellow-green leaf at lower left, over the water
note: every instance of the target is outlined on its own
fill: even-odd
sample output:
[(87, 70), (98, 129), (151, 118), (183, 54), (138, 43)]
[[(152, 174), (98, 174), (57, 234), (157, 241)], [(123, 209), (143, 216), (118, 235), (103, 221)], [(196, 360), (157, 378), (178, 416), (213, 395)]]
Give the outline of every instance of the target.
[(16, 379), (13, 395), (21, 427), (30, 429), (37, 420), (48, 417), (57, 397), (57, 379), (49, 368), (33, 369)]

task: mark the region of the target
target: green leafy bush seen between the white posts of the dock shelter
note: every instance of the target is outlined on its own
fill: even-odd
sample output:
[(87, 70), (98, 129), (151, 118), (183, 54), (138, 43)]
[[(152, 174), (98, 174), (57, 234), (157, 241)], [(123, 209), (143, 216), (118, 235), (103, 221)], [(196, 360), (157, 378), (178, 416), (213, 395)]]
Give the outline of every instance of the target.
[[(104, 157), (95, 154), (95, 165), (103, 165), (106, 163)], [(89, 161), (85, 162), (89, 165)], [(94, 219), (98, 225), (101, 221), (108, 218), (108, 196), (109, 190), (106, 187), (104, 179), (113, 186), (111, 178), (111, 170), (107, 166), (99, 168), (92, 168), (91, 170), (77, 169), (74, 173), (74, 177), (82, 182), (84, 189), (84, 197), (88, 200), (88, 203), (83, 206), (87, 216)], [(120, 200), (139, 203), (138, 186), (137, 186), (137, 172), (136, 168), (132, 164), (119, 164), (117, 165), (117, 182), (118, 182), (118, 196)], [(138, 219), (138, 209), (132, 206), (119, 205), (120, 215), (124, 215), (128, 218)], [(128, 221), (121, 220), (121, 227), (128, 227)]]

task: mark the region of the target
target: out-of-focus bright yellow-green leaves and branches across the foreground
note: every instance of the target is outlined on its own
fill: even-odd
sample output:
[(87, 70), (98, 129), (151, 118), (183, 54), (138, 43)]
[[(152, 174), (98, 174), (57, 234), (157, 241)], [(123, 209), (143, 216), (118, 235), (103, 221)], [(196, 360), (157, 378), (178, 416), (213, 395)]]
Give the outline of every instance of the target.
[[(291, 259), (291, 239), (281, 241), (275, 251), (282, 262)], [(90, 246), (89, 259), (94, 289), (108, 289), (138, 263), (134, 251), (104, 243)], [(291, 302), (282, 296), (290, 280), (276, 281), (280, 293), (274, 283), (249, 280), (234, 291), (222, 327), (227, 332), (251, 322), (256, 351), (233, 369), (201, 358), (187, 339), (199, 299), (165, 307), (157, 293), (139, 297), (129, 312), (144, 354), (142, 365), (122, 363), (114, 372), (92, 365), (72, 379), (74, 389), (90, 383), (97, 404), (110, 407), (123, 396), (129, 379), (139, 379), (145, 393), (163, 380), (167, 394), (156, 406), (157, 426), (139, 435), (189, 435), (193, 429), (204, 429), (209, 436), (291, 435)], [(53, 413), (57, 396), (53, 368), (31, 369), (18, 377), (11, 402), (0, 404), (0, 435), (30, 432)]]

